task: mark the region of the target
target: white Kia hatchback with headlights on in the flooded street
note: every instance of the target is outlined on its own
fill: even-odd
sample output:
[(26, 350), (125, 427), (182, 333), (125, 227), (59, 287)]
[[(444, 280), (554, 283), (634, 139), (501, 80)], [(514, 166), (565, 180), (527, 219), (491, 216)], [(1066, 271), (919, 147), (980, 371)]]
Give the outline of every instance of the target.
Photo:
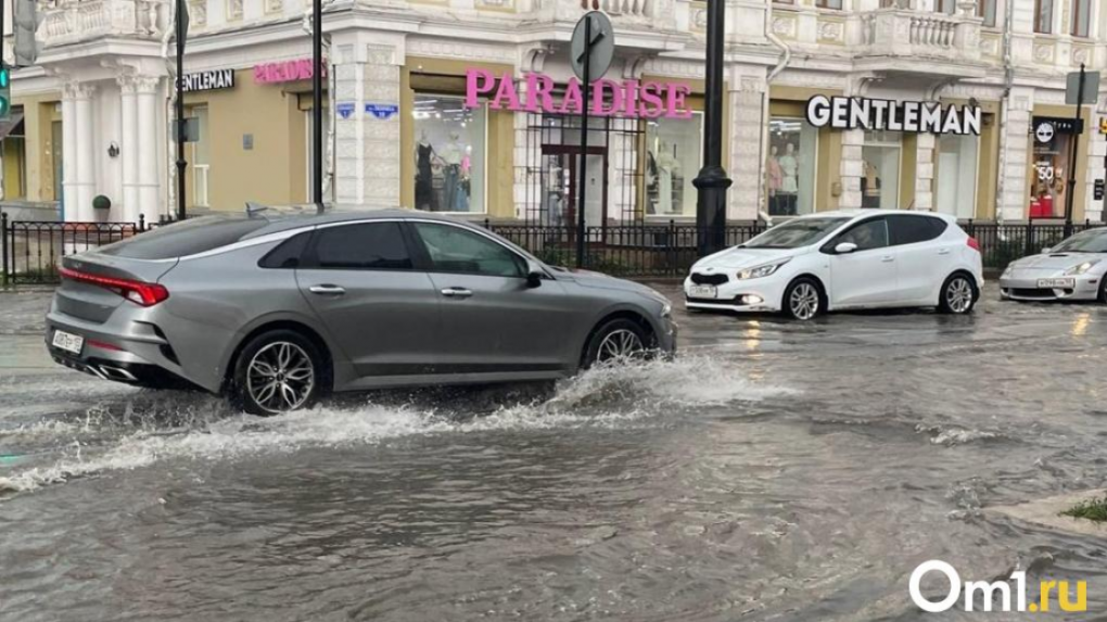
[(938, 307), (969, 313), (984, 286), (980, 246), (952, 217), (850, 210), (800, 216), (704, 257), (684, 280), (690, 310), (824, 311)]

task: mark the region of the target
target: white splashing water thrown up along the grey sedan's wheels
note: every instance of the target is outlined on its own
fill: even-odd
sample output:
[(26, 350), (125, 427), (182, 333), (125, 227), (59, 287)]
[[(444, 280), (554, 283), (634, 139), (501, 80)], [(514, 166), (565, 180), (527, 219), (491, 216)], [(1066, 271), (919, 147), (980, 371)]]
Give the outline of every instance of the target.
[[(128, 401), (118, 414), (111, 407), (96, 406), (77, 422), (42, 422), (0, 432), (0, 437), (7, 435), (9, 439), (51, 435), (69, 438), (65, 458), (0, 477), (0, 491), (34, 490), (174, 458), (232, 459), (306, 446), (373, 445), (411, 435), (612, 427), (682, 408), (756, 401), (789, 392), (752, 383), (738, 367), (724, 361), (687, 357), (589, 370), (558, 383), (546, 400), (499, 405), (483, 416), (472, 416), (464, 404), (392, 406), (370, 402), (360, 407), (318, 406), (261, 418), (228, 413), (213, 396), (180, 400), (179, 394), (155, 394), (146, 404)], [(103, 450), (87, 450), (113, 432), (112, 443), (105, 444)]]

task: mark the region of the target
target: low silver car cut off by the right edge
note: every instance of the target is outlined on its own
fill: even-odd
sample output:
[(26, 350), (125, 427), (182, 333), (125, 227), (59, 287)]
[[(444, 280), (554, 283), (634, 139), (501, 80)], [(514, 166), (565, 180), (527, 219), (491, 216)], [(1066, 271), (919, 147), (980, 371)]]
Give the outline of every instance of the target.
[(1039, 255), (1012, 261), (1000, 277), (1010, 300), (1098, 300), (1107, 302), (1107, 228), (1088, 229)]

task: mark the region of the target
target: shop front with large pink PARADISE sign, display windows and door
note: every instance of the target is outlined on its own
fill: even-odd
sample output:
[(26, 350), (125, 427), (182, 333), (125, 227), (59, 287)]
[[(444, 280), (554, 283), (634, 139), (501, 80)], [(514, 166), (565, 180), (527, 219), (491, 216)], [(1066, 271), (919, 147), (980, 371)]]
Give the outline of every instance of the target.
[(513, 68), (408, 62), (405, 205), (431, 211), (589, 226), (694, 218), (702, 97), (677, 81), (600, 80), (584, 105), (576, 77)]

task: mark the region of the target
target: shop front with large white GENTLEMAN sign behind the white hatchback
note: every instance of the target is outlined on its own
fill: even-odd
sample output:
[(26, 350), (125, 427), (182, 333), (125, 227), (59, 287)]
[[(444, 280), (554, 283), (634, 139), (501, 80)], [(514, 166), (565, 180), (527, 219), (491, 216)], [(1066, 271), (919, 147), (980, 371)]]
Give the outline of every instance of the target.
[[(845, 205), (932, 206), (958, 218), (994, 210), (994, 103), (845, 97), (787, 87), (775, 89), (772, 97), (765, 154), (769, 215)], [(850, 131), (859, 135), (847, 145), (844, 135)], [(847, 176), (856, 184), (853, 204), (842, 203)]]

